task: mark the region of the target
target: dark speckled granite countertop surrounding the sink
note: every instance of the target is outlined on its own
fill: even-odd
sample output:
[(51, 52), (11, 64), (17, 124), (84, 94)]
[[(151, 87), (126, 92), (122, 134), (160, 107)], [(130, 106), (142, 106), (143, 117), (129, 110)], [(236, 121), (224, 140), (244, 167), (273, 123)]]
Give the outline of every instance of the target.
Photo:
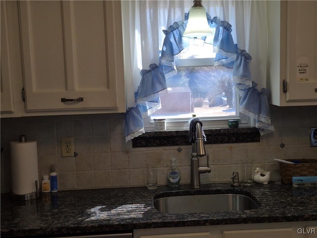
[(316, 187), (295, 188), (272, 182), (233, 188), (230, 183), (211, 183), (202, 185), (195, 192), (250, 194), (260, 208), (193, 214), (164, 214), (154, 208), (154, 196), (172, 195), (179, 190), (190, 190), (190, 186), (159, 186), (152, 191), (146, 187), (58, 191), (41, 196), (38, 201), (31, 200), (27, 205), (13, 202), (2, 194), (1, 237), (53, 237), (131, 232), (143, 228), (317, 221)]

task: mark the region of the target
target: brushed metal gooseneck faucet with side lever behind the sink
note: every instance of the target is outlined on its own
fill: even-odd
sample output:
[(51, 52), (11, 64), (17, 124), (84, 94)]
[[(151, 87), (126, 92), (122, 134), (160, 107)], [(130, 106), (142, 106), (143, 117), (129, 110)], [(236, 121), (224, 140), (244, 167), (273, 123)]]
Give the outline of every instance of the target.
[(203, 130), (201, 123), (195, 124), (196, 133), (194, 133), (194, 141), (192, 142), (192, 159), (191, 159), (191, 171), (190, 182), (192, 188), (200, 187), (200, 174), (211, 173), (211, 167), (209, 166), (209, 154), (207, 154), (207, 165), (199, 166), (199, 158), (206, 155)]

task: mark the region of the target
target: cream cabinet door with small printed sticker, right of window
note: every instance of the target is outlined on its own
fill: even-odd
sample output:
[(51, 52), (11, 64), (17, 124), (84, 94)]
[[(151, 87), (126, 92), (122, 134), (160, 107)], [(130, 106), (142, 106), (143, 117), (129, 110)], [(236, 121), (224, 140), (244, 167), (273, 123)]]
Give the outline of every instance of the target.
[(317, 1), (287, 2), (287, 101), (317, 100)]

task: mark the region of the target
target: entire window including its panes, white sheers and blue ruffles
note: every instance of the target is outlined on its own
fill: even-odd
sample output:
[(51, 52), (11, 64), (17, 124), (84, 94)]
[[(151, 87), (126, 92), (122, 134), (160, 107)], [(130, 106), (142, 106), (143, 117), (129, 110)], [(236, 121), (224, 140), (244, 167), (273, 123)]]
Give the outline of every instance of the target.
[[(255, 119), (261, 130), (271, 129), (267, 90), (263, 90), (267, 72), (267, 44), (263, 37), (267, 16), (262, 12), (266, 2), (203, 1), (209, 24), (215, 24), (211, 28), (216, 27), (216, 45), (211, 37), (182, 37), (191, 3), (187, 0), (122, 1), (126, 140), (153, 131), (154, 119), (166, 119), (167, 130), (186, 130), (193, 115), (203, 120), (206, 129), (227, 127), (228, 119), (240, 119), (242, 126), (250, 125)], [(260, 23), (263, 26), (257, 25)], [(220, 41), (227, 44), (229, 38), (232, 38), (230, 49), (225, 52)], [(212, 47), (217, 48), (217, 55), (212, 54)], [(255, 53), (256, 64), (250, 65), (252, 78), (248, 64), (251, 56), (240, 48), (250, 48)], [(224, 58), (219, 59), (219, 52), (224, 53)], [(227, 54), (231, 55), (227, 57)], [(234, 67), (226, 65), (233, 60), (219, 63), (227, 59), (236, 59)], [(165, 86), (160, 85), (164, 82)], [(259, 82), (258, 88), (264, 86), (262, 90), (257, 89)]]

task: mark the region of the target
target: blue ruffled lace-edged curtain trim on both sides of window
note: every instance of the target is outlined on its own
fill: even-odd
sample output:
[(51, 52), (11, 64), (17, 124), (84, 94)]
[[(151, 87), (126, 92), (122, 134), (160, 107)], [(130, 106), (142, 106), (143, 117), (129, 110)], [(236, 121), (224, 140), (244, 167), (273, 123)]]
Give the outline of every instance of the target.
[[(270, 123), (268, 90), (257, 89), (257, 83), (252, 79), (249, 61), (251, 56), (238, 48), (231, 35), (232, 26), (217, 17), (211, 18), (207, 13), (208, 23), (214, 28), (213, 39), (204, 37), (206, 43), (213, 44), (216, 53), (215, 65), (222, 65), (233, 69), (233, 78), (237, 89), (243, 90), (240, 101), (240, 112), (256, 119), (256, 127), (261, 134), (274, 130)], [(165, 34), (159, 64), (153, 63), (149, 69), (141, 70), (141, 82), (135, 92), (135, 106), (127, 109), (124, 119), (126, 141), (144, 133), (143, 114), (160, 109), (158, 93), (166, 88), (165, 75), (176, 73), (174, 56), (179, 54), (188, 45), (188, 38), (183, 37), (188, 20), (174, 22)]]

